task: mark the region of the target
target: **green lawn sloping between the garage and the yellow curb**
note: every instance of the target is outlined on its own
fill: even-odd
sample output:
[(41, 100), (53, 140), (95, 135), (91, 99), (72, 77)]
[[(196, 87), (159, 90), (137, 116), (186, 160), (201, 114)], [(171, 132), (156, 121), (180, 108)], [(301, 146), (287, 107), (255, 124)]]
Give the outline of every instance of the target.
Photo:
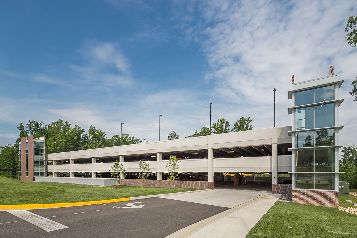
[(26, 182), (0, 177), (0, 205), (87, 202), (153, 194), (200, 190), (196, 188), (154, 188), (94, 186), (72, 183)]

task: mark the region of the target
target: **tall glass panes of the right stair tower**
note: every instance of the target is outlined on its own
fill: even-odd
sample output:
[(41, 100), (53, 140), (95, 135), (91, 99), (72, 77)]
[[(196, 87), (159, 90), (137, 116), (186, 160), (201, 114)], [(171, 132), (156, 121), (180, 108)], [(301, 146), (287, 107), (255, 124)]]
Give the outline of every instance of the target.
[[(335, 189), (335, 85), (295, 92), (295, 188)], [(315, 130), (320, 129), (320, 130)], [(310, 173), (307, 173), (310, 172)]]

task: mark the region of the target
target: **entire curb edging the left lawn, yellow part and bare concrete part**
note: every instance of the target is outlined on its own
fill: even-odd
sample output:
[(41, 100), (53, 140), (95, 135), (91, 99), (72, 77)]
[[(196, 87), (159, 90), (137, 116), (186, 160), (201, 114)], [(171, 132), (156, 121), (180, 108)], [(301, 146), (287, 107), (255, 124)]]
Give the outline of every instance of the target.
[(144, 199), (144, 198), (151, 198), (151, 197), (163, 197), (163, 196), (174, 195), (174, 194), (201, 192), (207, 190), (211, 190), (211, 189), (186, 191), (186, 192), (178, 192), (178, 193), (154, 194), (154, 195), (131, 197), (131, 198), (116, 198), (116, 199), (107, 199), (107, 200), (89, 201), (89, 202), (0, 205), (0, 211), (16, 210), (16, 209), (45, 209), (45, 208), (57, 208), (57, 207), (76, 207), (76, 206), (94, 205), (100, 203), (122, 202), (122, 201)]

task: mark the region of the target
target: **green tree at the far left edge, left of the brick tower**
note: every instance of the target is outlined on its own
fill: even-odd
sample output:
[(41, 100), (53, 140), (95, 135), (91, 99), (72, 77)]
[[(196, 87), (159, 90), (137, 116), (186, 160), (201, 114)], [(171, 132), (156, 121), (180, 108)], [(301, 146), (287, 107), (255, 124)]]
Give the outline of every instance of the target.
[[(12, 145), (0, 146), (0, 168), (19, 168), (18, 149), (18, 147)], [(17, 178), (17, 172), (15, 171), (2, 171), (0, 175), (8, 178)]]

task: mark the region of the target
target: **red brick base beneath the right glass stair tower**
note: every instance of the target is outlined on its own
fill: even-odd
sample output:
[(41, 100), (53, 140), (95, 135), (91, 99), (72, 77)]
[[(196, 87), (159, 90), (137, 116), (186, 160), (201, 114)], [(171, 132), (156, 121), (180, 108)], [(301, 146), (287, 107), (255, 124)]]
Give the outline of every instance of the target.
[(338, 191), (292, 190), (292, 202), (338, 207)]

